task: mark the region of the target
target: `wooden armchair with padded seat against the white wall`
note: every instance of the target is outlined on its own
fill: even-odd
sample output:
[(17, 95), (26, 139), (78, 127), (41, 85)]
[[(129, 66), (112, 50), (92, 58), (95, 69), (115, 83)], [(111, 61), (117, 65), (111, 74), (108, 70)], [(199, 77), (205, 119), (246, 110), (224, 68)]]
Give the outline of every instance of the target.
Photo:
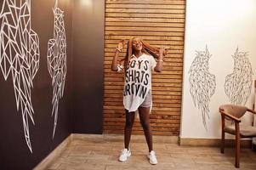
[[(250, 125), (242, 125), (241, 117), (247, 112), (256, 114), (256, 111), (250, 110), (242, 105), (221, 105), (219, 106), (219, 112), (221, 114), (221, 145), (220, 152), (224, 153), (225, 148), (225, 133), (236, 135), (236, 161), (235, 167), (239, 167), (240, 162), (240, 139), (256, 137), (256, 127)], [(225, 125), (225, 119), (231, 120), (234, 123), (231, 125)]]

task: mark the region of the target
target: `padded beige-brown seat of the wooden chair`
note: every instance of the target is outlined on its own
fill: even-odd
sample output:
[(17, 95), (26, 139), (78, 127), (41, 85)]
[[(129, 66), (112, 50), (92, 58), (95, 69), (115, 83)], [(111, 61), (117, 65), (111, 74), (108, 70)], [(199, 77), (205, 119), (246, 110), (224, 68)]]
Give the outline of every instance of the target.
[[(244, 138), (256, 137), (256, 127), (240, 124), (240, 135)], [(226, 133), (236, 134), (235, 124), (224, 127)]]

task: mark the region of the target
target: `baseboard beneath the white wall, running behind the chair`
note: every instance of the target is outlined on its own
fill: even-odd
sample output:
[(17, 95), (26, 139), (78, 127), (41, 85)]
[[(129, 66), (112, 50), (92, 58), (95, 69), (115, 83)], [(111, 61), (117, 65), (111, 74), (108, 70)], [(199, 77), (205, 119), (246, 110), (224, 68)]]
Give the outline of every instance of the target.
[[(179, 138), (179, 144), (181, 146), (220, 146), (220, 139), (187, 139), (187, 138)], [(234, 147), (235, 139), (225, 139), (226, 147)], [(251, 139), (242, 139), (241, 146), (243, 148), (251, 148), (252, 140)]]

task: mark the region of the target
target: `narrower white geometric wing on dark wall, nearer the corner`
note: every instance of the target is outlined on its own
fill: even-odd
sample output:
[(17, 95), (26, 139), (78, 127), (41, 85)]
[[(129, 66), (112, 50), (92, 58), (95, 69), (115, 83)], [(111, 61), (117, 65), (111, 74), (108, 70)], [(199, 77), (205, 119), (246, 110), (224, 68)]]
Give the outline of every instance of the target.
[[(63, 97), (66, 76), (66, 39), (64, 12), (54, 7), (54, 38), (48, 41), (48, 72), (52, 77), (53, 99), (52, 116), (54, 115), (54, 133), (57, 126), (59, 101)], [(54, 138), (53, 133), (53, 138)]]

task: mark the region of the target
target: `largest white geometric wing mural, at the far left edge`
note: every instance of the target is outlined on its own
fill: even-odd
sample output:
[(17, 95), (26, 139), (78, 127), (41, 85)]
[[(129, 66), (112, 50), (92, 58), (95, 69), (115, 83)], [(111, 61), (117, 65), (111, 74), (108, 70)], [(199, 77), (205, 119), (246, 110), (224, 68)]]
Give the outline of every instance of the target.
[(39, 68), (39, 39), (31, 29), (31, 0), (4, 0), (0, 26), (0, 68), (5, 80), (13, 80), (17, 110), (22, 113), (26, 144), (32, 152), (29, 120), (35, 124), (31, 88)]

